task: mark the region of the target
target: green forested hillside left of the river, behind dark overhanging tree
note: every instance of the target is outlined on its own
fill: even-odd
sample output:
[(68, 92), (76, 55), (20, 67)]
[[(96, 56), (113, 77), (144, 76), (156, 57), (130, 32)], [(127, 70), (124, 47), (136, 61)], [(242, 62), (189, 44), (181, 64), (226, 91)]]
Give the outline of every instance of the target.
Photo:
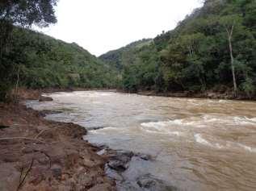
[(78, 44), (19, 27), (12, 32), (3, 60), (11, 71), (2, 70), (6, 75), (6, 81), (1, 81), (2, 89), (14, 87), (16, 82), (32, 89), (116, 86), (113, 70)]

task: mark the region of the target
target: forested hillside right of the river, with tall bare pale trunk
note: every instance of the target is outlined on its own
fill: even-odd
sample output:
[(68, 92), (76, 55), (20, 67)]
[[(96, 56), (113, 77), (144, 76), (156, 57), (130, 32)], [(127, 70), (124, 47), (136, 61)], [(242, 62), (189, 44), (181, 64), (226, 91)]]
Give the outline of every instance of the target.
[[(122, 74), (130, 92), (199, 93), (207, 90), (254, 96), (256, 1), (206, 0), (204, 6), (140, 48), (100, 56)], [(109, 59), (111, 57), (111, 59)]]

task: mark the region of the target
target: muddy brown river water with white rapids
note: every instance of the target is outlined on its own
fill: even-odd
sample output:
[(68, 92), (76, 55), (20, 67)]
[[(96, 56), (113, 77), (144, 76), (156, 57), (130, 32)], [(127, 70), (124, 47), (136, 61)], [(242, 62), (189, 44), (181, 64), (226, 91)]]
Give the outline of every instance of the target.
[[(146, 97), (103, 91), (27, 102), (46, 118), (89, 129), (85, 139), (142, 152), (127, 178), (150, 173), (178, 190), (256, 190), (256, 102)], [(98, 129), (98, 130), (94, 130)]]

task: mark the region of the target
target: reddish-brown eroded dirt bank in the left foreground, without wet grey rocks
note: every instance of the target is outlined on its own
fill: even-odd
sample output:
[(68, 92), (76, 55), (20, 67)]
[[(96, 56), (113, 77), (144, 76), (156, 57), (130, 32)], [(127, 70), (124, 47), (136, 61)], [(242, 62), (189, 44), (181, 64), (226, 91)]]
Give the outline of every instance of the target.
[[(38, 93), (35, 92), (37, 95)], [(0, 103), (0, 190), (115, 190), (83, 127)]]

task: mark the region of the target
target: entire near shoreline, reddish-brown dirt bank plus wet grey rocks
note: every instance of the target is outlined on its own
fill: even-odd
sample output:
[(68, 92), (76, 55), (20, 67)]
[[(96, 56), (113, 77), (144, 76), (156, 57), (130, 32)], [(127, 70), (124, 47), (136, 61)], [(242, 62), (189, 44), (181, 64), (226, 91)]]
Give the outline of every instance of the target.
[[(19, 98), (52, 101), (36, 90), (20, 90)], [(132, 160), (152, 156), (94, 146), (84, 127), (44, 119), (55, 113), (0, 103), (0, 190), (176, 190), (150, 174), (125, 176), (136, 174)]]

